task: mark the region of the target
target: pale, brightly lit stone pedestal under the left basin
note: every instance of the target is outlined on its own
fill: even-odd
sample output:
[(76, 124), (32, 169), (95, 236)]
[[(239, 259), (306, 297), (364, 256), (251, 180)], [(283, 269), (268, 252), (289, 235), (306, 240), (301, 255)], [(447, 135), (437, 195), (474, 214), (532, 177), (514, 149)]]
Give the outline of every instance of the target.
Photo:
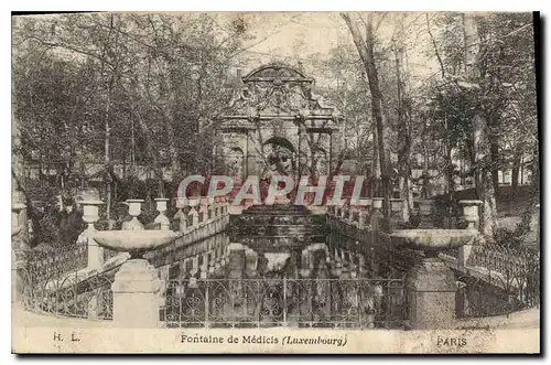
[(111, 286), (114, 323), (122, 328), (159, 328), (162, 286), (148, 260), (126, 261)]

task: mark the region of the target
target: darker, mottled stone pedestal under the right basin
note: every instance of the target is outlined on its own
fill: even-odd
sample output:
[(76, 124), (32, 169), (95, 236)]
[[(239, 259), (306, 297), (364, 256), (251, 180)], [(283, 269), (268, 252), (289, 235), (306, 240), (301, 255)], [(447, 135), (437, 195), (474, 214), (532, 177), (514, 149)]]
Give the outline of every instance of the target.
[(406, 279), (408, 319), (413, 330), (450, 329), (455, 318), (456, 285), (437, 257), (425, 258)]

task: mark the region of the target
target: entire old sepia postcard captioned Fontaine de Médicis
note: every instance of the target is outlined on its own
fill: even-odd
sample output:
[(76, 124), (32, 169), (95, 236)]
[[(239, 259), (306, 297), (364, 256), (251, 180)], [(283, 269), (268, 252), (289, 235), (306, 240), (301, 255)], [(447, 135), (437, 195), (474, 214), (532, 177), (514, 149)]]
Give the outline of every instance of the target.
[(539, 15), (12, 17), (12, 352), (540, 353)]

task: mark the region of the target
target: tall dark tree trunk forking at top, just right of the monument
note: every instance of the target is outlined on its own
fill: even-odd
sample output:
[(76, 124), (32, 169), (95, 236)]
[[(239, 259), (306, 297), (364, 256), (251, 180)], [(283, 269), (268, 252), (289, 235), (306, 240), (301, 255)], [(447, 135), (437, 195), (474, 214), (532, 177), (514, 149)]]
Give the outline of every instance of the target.
[(348, 14), (342, 13), (342, 18), (345, 20), (348, 29), (350, 30), (354, 43), (358, 50), (359, 57), (364, 63), (366, 68), (367, 78), (369, 82), (369, 92), (371, 94), (371, 114), (374, 116), (375, 125), (377, 128), (377, 147), (379, 150), (379, 162), (381, 172), (381, 187), (382, 187), (382, 214), (385, 215), (385, 221), (388, 223), (390, 217), (390, 175), (388, 171), (387, 157), (385, 153), (385, 142), (383, 142), (383, 116), (382, 116), (382, 93), (379, 87), (379, 77), (377, 74), (377, 67), (375, 66), (374, 56), (374, 25), (371, 17), (368, 18), (366, 24), (366, 40), (359, 32), (359, 28), (356, 21), (353, 21)]

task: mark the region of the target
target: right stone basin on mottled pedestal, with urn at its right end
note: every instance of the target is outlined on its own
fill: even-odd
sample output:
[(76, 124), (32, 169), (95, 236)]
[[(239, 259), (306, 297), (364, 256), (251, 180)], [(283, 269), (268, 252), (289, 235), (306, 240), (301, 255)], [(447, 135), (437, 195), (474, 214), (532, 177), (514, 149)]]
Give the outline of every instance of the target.
[(455, 277), (439, 254), (457, 249), (474, 239), (478, 232), (478, 201), (462, 201), (467, 229), (401, 229), (390, 234), (397, 248), (422, 251), (422, 260), (409, 272), (409, 325), (415, 330), (450, 329), (455, 319)]

